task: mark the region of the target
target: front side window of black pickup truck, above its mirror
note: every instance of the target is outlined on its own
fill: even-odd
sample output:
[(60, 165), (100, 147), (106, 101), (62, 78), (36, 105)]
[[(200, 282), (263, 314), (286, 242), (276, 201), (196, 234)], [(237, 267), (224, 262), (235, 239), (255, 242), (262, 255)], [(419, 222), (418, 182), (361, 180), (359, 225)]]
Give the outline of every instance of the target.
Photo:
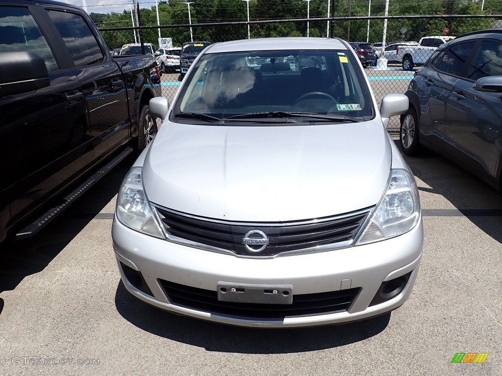
[(58, 64), (37, 23), (24, 7), (0, 7), (0, 53), (30, 51), (45, 61), (48, 72)]

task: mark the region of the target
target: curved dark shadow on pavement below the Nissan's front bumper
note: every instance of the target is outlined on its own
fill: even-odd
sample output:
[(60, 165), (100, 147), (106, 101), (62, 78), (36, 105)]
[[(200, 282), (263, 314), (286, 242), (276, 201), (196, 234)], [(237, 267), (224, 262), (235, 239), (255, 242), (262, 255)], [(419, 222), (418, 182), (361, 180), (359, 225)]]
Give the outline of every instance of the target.
[(207, 351), (282, 354), (315, 351), (362, 341), (382, 332), (391, 313), (343, 325), (248, 328), (178, 316), (137, 299), (120, 281), (115, 306), (126, 320), (152, 334)]

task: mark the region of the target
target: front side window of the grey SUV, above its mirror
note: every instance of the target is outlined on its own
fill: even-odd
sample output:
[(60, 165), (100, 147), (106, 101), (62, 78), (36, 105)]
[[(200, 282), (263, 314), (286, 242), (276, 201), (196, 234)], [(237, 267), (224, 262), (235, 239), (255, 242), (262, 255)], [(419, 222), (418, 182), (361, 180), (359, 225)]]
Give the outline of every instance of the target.
[(502, 44), (498, 41), (483, 41), (472, 61), (467, 78), (502, 75)]

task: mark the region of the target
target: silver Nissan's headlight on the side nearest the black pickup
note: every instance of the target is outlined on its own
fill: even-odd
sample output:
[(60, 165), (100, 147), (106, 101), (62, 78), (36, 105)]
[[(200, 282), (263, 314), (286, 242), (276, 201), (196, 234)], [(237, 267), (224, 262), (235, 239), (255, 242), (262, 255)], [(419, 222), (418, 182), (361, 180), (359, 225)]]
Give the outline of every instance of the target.
[(133, 167), (122, 181), (115, 215), (118, 222), (140, 233), (165, 239), (143, 187), (142, 168)]

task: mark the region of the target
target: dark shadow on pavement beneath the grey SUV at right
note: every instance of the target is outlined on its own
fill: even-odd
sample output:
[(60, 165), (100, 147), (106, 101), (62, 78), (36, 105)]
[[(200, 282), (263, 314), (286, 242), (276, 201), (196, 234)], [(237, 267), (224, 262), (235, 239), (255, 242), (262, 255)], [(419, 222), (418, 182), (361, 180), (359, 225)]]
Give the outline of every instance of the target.
[[(399, 140), (395, 140), (399, 148)], [(416, 157), (403, 155), (419, 184), (419, 192), (442, 196), (456, 209), (430, 209), (422, 205), (424, 217), (466, 217), (475, 226), (502, 243), (500, 218), (502, 196), (488, 183), (446, 159), (421, 147)], [(422, 186), (421, 186), (422, 185)], [(494, 218), (497, 218), (495, 221)]]

